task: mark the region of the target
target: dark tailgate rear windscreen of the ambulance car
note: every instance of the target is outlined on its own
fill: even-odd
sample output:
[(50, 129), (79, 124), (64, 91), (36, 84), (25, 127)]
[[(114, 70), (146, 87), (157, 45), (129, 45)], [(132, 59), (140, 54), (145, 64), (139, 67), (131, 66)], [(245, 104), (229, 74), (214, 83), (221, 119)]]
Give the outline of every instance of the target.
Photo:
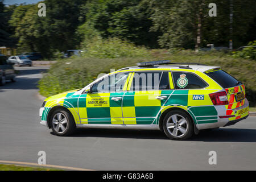
[(229, 75), (229, 73), (227, 73), (223, 70), (208, 72), (205, 74), (207, 76), (211, 77), (218, 84), (220, 84), (224, 89), (234, 87), (234, 86), (241, 84), (241, 82), (239, 82), (236, 78)]

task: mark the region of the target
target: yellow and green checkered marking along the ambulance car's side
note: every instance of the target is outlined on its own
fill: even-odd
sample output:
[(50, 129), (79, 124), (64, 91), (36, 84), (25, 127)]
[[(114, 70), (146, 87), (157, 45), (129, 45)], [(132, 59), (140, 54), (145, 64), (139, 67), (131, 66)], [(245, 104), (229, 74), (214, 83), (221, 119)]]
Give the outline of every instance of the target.
[[(190, 98), (192, 95), (189, 94), (190, 91), (154, 90), (82, 94), (81, 96), (73, 95), (75, 92), (71, 92), (65, 93), (63, 100), (60, 99), (58, 103), (52, 105), (67, 107), (73, 114), (76, 123), (81, 121), (81, 124), (158, 124), (160, 114), (174, 105), (188, 110), (197, 123), (217, 122), (217, 111), (214, 109), (214, 106), (192, 107), (190, 105), (193, 104), (192, 98)], [(195, 90), (193, 92), (197, 93)], [(169, 99), (156, 100), (155, 97), (159, 95), (167, 96), (167, 99)], [(122, 100), (113, 101), (112, 97), (122, 97)], [(54, 100), (54, 102), (57, 100)], [(51, 107), (45, 108), (42, 120), (46, 121), (50, 109)], [(216, 117), (207, 117), (209, 112), (216, 115)], [(202, 115), (205, 115), (205, 117), (198, 117)], [(200, 122), (200, 120), (205, 119), (212, 120)]]

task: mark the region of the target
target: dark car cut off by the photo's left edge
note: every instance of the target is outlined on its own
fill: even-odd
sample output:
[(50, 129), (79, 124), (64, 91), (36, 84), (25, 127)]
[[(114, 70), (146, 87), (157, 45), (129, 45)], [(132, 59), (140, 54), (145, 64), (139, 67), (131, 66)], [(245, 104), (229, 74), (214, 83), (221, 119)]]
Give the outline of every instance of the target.
[(0, 55), (0, 85), (5, 85), (6, 80), (15, 81), (14, 63), (8, 63), (5, 55)]

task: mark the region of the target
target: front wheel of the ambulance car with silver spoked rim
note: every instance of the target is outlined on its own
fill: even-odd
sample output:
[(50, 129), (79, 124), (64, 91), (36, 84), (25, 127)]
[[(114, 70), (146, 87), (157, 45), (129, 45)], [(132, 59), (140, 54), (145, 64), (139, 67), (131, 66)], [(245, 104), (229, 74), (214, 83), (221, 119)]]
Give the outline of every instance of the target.
[(64, 109), (57, 109), (51, 115), (51, 129), (55, 135), (68, 136), (76, 129), (73, 116)]

